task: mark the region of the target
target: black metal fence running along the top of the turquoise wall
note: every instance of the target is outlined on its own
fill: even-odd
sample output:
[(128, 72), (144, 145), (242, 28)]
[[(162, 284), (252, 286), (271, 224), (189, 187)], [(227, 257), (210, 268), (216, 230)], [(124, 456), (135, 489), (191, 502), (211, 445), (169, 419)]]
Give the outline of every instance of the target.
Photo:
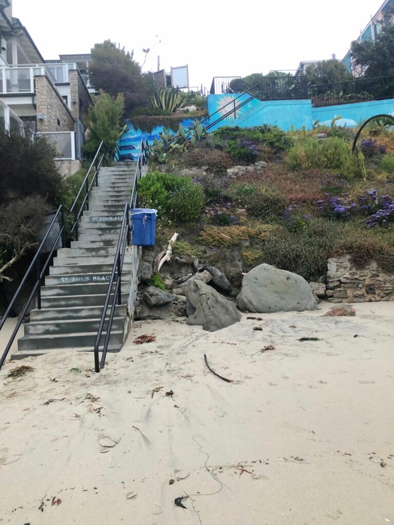
[(248, 93), (258, 100), (310, 99), (315, 107), (394, 98), (394, 76), (360, 78), (318, 86), (305, 76), (264, 77), (254, 86), (241, 77), (214, 77), (211, 94)]

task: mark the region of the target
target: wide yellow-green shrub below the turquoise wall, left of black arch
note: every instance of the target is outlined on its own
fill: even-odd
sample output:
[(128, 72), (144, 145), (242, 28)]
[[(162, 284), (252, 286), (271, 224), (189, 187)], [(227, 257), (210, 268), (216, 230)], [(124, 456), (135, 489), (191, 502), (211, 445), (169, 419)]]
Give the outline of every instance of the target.
[(337, 170), (347, 176), (354, 176), (359, 171), (356, 156), (346, 142), (337, 137), (296, 141), (287, 153), (287, 164), (292, 170), (320, 168)]

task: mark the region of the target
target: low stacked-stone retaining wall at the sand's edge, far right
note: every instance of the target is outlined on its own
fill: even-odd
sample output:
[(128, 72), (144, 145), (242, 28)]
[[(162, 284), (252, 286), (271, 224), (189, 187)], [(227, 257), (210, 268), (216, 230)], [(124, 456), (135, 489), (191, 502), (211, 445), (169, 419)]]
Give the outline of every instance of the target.
[(349, 255), (328, 259), (326, 297), (335, 303), (393, 301), (394, 274), (374, 260), (357, 268)]

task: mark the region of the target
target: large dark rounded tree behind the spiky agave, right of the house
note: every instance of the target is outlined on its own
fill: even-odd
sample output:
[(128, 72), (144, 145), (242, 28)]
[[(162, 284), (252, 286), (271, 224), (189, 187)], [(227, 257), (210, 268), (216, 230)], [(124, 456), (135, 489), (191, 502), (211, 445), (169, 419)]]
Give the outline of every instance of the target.
[(89, 75), (92, 85), (112, 97), (123, 93), (126, 113), (148, 101), (148, 88), (132, 52), (105, 40), (92, 48), (91, 59)]

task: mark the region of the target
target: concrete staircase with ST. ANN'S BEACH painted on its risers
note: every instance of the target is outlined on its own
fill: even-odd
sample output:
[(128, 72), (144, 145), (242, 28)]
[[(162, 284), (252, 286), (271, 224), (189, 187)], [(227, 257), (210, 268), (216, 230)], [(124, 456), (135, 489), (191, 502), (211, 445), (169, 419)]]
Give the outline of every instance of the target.
[[(90, 194), (89, 211), (81, 217), (78, 241), (72, 241), (71, 248), (57, 250), (41, 289), (42, 309), (30, 311), (30, 322), (24, 325), (25, 335), (18, 340), (13, 359), (54, 349), (94, 349), (135, 169), (135, 163), (101, 168), (99, 185)], [(119, 351), (127, 336), (132, 316), (128, 304), (134, 294), (138, 259), (138, 248), (128, 247), (122, 270), (122, 304), (116, 306), (109, 351)], [(109, 313), (110, 307), (107, 317)], [(100, 344), (107, 323), (104, 328)]]

